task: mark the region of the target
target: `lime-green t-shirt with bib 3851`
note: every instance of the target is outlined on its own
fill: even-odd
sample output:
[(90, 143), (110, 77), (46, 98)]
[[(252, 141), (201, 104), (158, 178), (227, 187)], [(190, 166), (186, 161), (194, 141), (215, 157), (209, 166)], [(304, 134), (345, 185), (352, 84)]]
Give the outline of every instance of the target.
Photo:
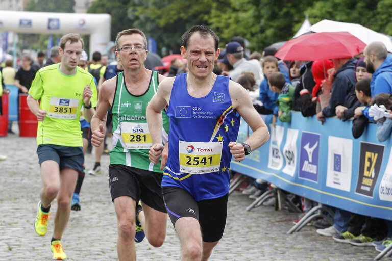
[(80, 67), (74, 75), (66, 75), (59, 66), (60, 63), (41, 68), (29, 90), (34, 99), (40, 99), (40, 108), (46, 111), (45, 119), (38, 122), (37, 144), (82, 147), (79, 122), (82, 94), (84, 87), (90, 85), (91, 105), (96, 107), (95, 82), (93, 76)]

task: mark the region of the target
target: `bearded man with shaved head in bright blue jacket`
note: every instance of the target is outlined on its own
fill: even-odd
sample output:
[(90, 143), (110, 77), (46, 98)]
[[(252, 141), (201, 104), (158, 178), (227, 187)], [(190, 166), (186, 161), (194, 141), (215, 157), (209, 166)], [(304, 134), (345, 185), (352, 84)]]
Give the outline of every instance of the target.
[(373, 73), (370, 83), (372, 97), (392, 93), (392, 56), (382, 42), (372, 42), (363, 51), (367, 72)]

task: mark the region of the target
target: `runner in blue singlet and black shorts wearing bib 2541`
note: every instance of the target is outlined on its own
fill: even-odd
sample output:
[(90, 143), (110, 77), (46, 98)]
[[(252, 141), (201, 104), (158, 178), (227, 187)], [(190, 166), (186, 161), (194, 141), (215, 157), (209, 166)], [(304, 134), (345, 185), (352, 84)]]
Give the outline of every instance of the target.
[[(159, 162), (164, 148), (161, 110), (168, 106), (170, 154), (162, 180), (166, 209), (181, 242), (181, 260), (207, 260), (226, 224), (232, 155), (242, 161), (269, 133), (248, 92), (212, 72), (219, 56), (216, 34), (195, 25), (182, 40), (189, 73), (165, 79), (149, 103), (154, 144), (149, 155), (153, 163)], [(235, 142), (237, 112), (253, 130), (243, 144)]]

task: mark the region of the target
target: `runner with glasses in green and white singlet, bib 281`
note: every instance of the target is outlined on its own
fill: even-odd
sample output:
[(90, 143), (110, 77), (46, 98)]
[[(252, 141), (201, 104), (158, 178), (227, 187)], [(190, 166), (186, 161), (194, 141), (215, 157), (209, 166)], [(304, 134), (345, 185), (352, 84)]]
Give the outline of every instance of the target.
[[(109, 187), (118, 222), (119, 260), (136, 260), (134, 241), (143, 240), (144, 234), (154, 247), (161, 246), (166, 235), (167, 214), (161, 180), (167, 150), (163, 152), (162, 162), (150, 162), (148, 152), (152, 141), (145, 117), (146, 107), (165, 77), (145, 68), (146, 45), (146, 37), (140, 30), (117, 34), (116, 57), (124, 72), (102, 84), (91, 120), (91, 142), (99, 146), (105, 137), (107, 111), (112, 108), (114, 148), (110, 151)], [(164, 144), (168, 137), (168, 118), (164, 112), (162, 117)]]

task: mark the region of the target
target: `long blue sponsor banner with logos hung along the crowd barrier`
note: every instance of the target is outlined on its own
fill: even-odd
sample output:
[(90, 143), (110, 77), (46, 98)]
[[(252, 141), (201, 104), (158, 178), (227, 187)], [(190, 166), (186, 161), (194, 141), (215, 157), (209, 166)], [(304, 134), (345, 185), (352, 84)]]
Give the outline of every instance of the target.
[[(359, 139), (352, 121), (293, 112), (291, 124), (274, 128), (271, 138), (231, 170), (262, 178), (291, 193), (366, 216), (392, 219), (392, 154), (390, 139), (378, 142), (377, 125), (369, 124)], [(238, 142), (252, 131), (241, 120)]]

